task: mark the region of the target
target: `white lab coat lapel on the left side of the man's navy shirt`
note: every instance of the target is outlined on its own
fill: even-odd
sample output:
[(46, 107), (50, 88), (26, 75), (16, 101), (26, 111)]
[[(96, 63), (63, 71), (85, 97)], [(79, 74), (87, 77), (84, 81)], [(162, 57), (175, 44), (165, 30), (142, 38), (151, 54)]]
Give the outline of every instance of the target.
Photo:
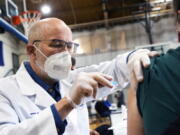
[(21, 64), (15, 76), (22, 94), (25, 96), (35, 96), (36, 105), (49, 107), (56, 103), (56, 101), (31, 78), (24, 63)]

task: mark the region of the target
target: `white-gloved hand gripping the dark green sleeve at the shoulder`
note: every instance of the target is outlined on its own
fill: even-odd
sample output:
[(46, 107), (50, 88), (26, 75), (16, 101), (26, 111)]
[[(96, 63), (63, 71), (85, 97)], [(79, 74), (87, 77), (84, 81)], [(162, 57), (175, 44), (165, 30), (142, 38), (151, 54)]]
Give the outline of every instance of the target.
[(148, 67), (150, 65), (150, 57), (159, 55), (156, 51), (149, 51), (148, 49), (139, 49), (129, 56), (128, 67), (130, 73), (135, 74), (136, 80), (141, 82), (143, 80), (142, 66)]

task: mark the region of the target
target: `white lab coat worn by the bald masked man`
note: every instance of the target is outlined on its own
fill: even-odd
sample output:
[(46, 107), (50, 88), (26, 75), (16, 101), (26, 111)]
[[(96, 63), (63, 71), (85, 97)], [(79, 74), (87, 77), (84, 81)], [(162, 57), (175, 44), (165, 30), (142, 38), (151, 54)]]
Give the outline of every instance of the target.
[[(129, 83), (126, 65), (127, 54), (114, 60), (74, 70), (60, 82), (61, 96), (70, 91), (79, 72), (103, 72), (112, 75), (120, 86)], [(56, 101), (33, 81), (24, 64), (18, 72), (0, 80), (0, 135), (57, 135), (50, 105)], [(67, 116), (68, 125), (63, 135), (89, 135), (86, 105), (76, 108)]]

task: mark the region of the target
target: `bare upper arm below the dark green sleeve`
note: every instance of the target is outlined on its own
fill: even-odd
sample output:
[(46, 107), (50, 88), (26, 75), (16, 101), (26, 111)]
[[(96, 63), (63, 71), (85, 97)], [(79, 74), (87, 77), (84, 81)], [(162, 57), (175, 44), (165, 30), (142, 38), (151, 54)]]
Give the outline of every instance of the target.
[(135, 80), (132, 80), (128, 90), (128, 135), (144, 135), (143, 121), (137, 108), (135, 85)]

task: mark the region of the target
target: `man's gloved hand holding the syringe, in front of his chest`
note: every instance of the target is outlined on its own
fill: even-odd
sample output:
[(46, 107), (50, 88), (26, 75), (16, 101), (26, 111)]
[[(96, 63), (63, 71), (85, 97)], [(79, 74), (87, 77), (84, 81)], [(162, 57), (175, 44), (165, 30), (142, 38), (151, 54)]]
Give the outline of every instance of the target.
[(113, 87), (110, 80), (112, 77), (98, 72), (79, 73), (69, 98), (75, 105), (79, 105), (84, 97), (93, 96), (95, 98), (98, 87)]

